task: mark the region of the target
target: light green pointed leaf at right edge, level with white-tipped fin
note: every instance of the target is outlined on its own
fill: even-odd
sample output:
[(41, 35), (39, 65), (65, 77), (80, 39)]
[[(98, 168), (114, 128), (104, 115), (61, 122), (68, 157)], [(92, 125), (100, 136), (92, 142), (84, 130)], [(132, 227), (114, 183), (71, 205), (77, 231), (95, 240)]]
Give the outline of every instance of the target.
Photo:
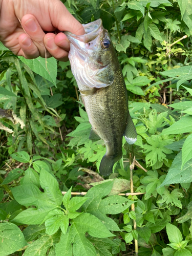
[(179, 121), (172, 124), (167, 129), (164, 129), (161, 133), (161, 135), (165, 134), (183, 134), (183, 131), (185, 133), (192, 132), (192, 117), (186, 116), (181, 118)]

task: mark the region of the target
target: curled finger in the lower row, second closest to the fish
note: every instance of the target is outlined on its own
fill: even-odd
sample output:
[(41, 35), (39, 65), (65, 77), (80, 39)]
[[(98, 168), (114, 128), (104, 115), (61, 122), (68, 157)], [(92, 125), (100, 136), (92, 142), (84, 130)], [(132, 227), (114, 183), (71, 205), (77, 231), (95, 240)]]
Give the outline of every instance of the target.
[[(68, 60), (68, 51), (60, 48), (55, 43), (56, 35), (53, 33), (48, 33), (44, 37), (44, 44), (49, 53), (58, 60), (67, 61)], [(69, 47), (68, 47), (69, 49)]]

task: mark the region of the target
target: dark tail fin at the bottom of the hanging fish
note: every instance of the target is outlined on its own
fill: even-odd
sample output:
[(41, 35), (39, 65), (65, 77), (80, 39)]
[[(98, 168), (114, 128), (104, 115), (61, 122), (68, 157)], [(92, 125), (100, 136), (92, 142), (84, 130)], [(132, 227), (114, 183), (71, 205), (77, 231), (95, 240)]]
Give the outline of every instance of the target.
[(99, 166), (99, 173), (100, 175), (103, 176), (109, 176), (111, 173), (113, 173), (113, 165), (119, 161), (122, 157), (122, 154), (119, 156), (108, 156), (108, 155), (104, 155), (100, 166)]

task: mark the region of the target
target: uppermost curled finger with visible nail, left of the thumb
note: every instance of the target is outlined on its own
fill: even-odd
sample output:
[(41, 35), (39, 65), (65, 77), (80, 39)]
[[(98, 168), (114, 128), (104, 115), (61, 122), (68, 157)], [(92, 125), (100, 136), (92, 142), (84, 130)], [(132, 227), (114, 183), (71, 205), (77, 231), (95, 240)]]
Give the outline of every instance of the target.
[[(42, 31), (37, 19), (31, 14), (26, 14), (22, 18), (22, 26), (27, 35), (31, 37), (33, 44), (37, 47), (39, 55), (45, 57), (45, 46), (43, 41), (45, 33)], [(50, 55), (47, 57), (50, 57)]]

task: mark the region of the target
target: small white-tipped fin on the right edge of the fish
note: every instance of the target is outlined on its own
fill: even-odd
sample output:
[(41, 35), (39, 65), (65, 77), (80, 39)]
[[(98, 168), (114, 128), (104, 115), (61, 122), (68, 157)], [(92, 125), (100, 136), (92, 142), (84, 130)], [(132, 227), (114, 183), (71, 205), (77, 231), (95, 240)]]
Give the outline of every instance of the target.
[(133, 144), (137, 140), (137, 133), (136, 133), (135, 125), (132, 121), (130, 113), (128, 113), (124, 137), (125, 137), (126, 142), (129, 144)]

